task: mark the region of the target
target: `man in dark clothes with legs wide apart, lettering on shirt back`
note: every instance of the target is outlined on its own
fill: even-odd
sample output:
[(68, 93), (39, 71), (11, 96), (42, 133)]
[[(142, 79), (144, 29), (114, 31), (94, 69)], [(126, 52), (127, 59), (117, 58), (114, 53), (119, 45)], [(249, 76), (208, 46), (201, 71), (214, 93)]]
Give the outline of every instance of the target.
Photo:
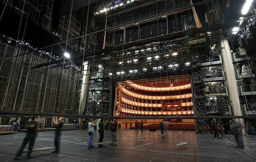
[(28, 122), (26, 123), (26, 136), (20, 146), (19, 151), (16, 153), (16, 156), (13, 160), (18, 160), (18, 157), (21, 156), (22, 151), (24, 150), (24, 148), (26, 147), (26, 145), (28, 144), (28, 152), (26, 155), (26, 160), (28, 160), (30, 158), (31, 152), (33, 150), (33, 147), (35, 145), (35, 140), (36, 140), (36, 129), (37, 129), (37, 121), (36, 121), (36, 117), (34, 115), (32, 115)]

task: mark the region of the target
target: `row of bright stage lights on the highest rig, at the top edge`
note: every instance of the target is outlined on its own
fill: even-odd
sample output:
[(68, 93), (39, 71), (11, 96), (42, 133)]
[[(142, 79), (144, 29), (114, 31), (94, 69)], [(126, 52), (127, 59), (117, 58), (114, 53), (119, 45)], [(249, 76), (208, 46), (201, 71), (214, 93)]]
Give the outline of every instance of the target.
[(106, 6), (98, 7), (94, 14), (95, 15), (100, 14), (100, 13), (105, 13), (106, 14), (109, 10), (116, 9), (116, 8), (124, 6), (124, 5), (132, 4), (134, 1), (135, 0), (128, 0), (128, 1), (117, 0), (117, 1), (112, 1), (112, 2), (108, 3)]

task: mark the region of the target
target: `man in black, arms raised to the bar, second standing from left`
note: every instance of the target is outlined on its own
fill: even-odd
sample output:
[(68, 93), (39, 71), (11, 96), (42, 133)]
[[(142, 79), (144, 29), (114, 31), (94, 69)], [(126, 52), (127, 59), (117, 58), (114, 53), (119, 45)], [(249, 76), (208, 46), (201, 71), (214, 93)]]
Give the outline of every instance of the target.
[(60, 153), (60, 135), (61, 135), (60, 129), (63, 125), (62, 121), (63, 121), (63, 117), (59, 117), (59, 119), (57, 118), (57, 116), (52, 117), (53, 125), (56, 126), (55, 138), (54, 138), (55, 151), (52, 151), (53, 154)]

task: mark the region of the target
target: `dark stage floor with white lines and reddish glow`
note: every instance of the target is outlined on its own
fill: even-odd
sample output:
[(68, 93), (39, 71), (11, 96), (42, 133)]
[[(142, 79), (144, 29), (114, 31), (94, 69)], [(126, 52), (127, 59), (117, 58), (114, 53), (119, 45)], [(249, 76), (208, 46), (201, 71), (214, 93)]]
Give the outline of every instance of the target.
[[(96, 130), (95, 130), (96, 132)], [(235, 138), (214, 138), (213, 134), (196, 134), (193, 132), (167, 132), (168, 136), (160, 137), (159, 131), (141, 131), (145, 139), (134, 140), (134, 130), (117, 130), (117, 147), (104, 145), (87, 149), (89, 136), (87, 130), (62, 131), (59, 155), (52, 155), (53, 150), (32, 152), (29, 161), (94, 161), (94, 162), (152, 162), (152, 161), (255, 161), (255, 136), (244, 136), (245, 149), (236, 149)], [(12, 161), (18, 151), (25, 133), (0, 136), (0, 159)], [(38, 132), (34, 149), (53, 146), (54, 131)], [(99, 133), (94, 133), (93, 142), (98, 142)], [(103, 142), (111, 141), (110, 131), (105, 130)], [(175, 146), (181, 142), (187, 145)], [(28, 148), (28, 145), (26, 149)], [(25, 161), (23, 153), (19, 161)]]

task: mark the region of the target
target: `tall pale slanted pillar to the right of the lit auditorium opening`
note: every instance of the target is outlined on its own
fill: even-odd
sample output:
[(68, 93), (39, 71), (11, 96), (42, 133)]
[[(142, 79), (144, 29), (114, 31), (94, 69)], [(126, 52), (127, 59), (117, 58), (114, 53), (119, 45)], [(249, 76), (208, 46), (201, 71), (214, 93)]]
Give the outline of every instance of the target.
[[(240, 100), (239, 100), (239, 95), (238, 95), (238, 90), (237, 90), (237, 85), (236, 85), (236, 76), (234, 72), (234, 66), (232, 63), (231, 59), (231, 52), (228, 44), (228, 40), (221, 40), (220, 41), (220, 46), (223, 48), (221, 49), (221, 59), (222, 59), (222, 64), (224, 68), (224, 73), (225, 73), (225, 80), (226, 80), (226, 86), (228, 90), (228, 98), (231, 107), (231, 112), (232, 115), (234, 116), (240, 116), (242, 115), (241, 113), (241, 107), (240, 107)], [(244, 119), (237, 119), (244, 125)], [(243, 131), (244, 134), (244, 131)]]

